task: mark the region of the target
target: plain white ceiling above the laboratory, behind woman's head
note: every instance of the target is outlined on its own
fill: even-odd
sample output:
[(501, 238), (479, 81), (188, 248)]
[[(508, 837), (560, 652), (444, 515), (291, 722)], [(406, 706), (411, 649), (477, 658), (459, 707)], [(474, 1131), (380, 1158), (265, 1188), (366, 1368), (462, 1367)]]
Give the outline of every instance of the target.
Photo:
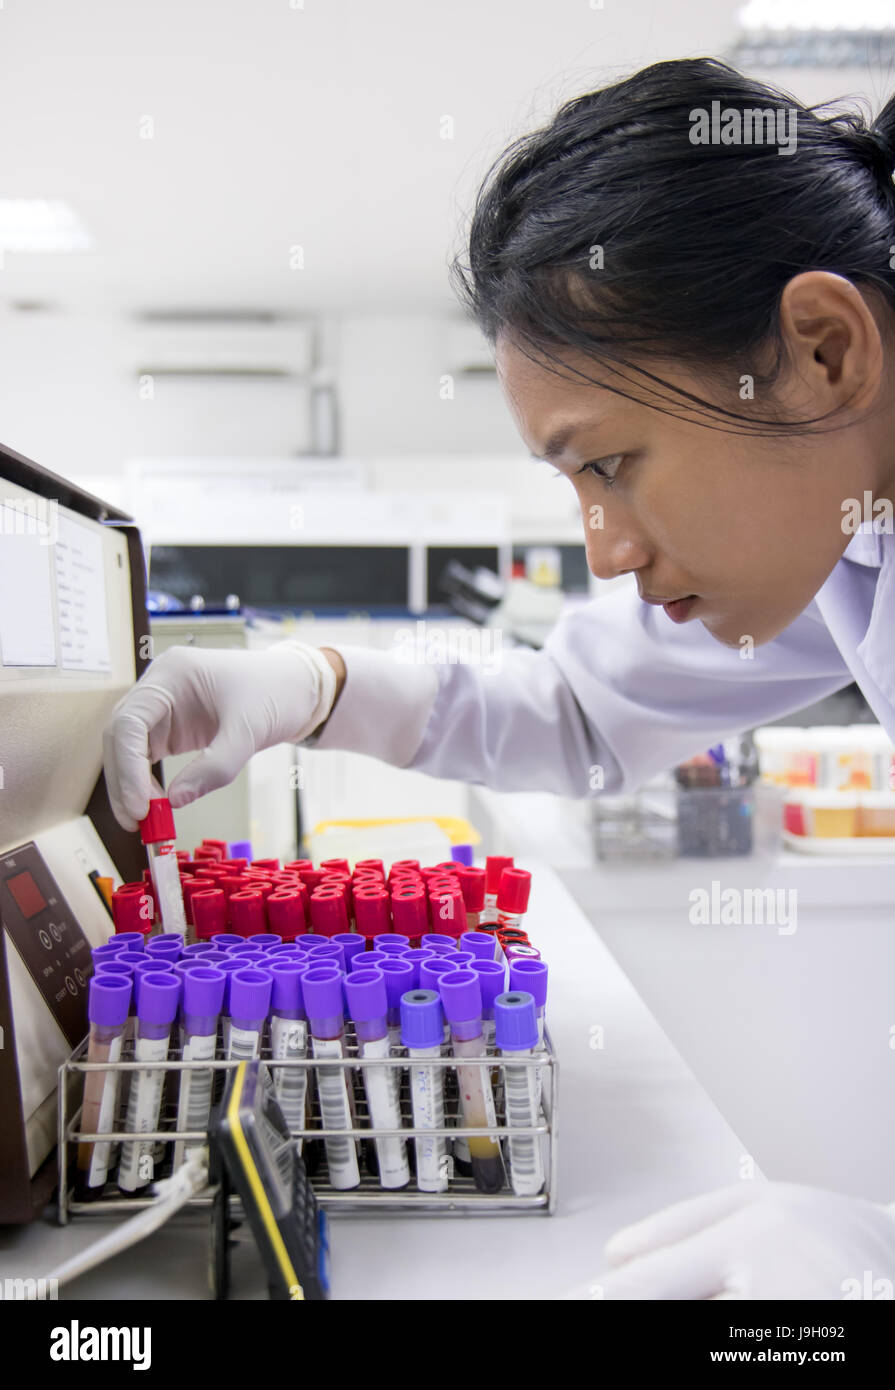
[(721, 53), (737, 8), (6, 0), (3, 196), (67, 200), (95, 249), (8, 253), (0, 314), (450, 310), (446, 261), (503, 145), (588, 86)]

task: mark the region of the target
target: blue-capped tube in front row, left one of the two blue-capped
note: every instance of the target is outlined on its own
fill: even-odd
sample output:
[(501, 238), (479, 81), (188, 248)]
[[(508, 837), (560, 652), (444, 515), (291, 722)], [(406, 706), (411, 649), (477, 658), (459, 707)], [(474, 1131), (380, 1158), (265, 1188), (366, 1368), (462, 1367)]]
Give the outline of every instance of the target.
[[(425, 1066), (442, 1054), (442, 1006), (434, 990), (409, 990), (400, 1001), (400, 1036), (410, 1058), (410, 1099), (414, 1129), (445, 1127), (445, 1077), (441, 1066)], [(413, 1141), (417, 1187), (421, 1193), (448, 1190), (448, 1140), (443, 1134)]]

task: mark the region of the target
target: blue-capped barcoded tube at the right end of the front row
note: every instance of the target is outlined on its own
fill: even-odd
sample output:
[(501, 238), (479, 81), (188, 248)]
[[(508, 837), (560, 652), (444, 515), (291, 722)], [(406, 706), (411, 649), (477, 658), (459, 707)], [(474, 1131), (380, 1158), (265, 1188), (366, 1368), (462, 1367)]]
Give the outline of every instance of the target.
[[(507, 1129), (531, 1129), (541, 1108), (536, 1069), (511, 1066), (509, 1059), (536, 1055), (538, 1020), (535, 1001), (523, 990), (499, 994), (495, 999), (495, 1041), (507, 1059), (503, 1065), (503, 1094)], [(543, 1162), (536, 1134), (510, 1136), (510, 1184), (517, 1197), (535, 1197), (543, 1187)]]

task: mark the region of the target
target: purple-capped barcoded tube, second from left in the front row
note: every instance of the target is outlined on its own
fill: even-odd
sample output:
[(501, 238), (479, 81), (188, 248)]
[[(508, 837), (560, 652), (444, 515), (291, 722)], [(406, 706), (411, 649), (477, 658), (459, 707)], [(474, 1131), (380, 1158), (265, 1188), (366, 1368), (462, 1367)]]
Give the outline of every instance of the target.
[[(172, 856), (174, 858), (174, 856)], [(176, 863), (176, 859), (174, 859)], [(164, 1062), (168, 1056), (171, 1024), (181, 1001), (181, 979), (172, 970), (145, 972), (135, 981), (136, 991), (136, 1062)], [(149, 1133), (158, 1126), (164, 1070), (135, 1072), (128, 1097), (125, 1129), (132, 1134)], [(135, 1193), (153, 1180), (154, 1140), (128, 1138), (121, 1145), (118, 1187)]]

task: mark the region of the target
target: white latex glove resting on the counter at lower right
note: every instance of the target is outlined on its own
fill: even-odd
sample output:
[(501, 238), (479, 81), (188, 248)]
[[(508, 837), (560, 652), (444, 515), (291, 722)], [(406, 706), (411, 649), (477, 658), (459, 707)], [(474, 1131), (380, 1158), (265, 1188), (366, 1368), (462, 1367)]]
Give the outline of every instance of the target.
[(744, 1182), (625, 1226), (581, 1298), (891, 1298), (895, 1209)]

